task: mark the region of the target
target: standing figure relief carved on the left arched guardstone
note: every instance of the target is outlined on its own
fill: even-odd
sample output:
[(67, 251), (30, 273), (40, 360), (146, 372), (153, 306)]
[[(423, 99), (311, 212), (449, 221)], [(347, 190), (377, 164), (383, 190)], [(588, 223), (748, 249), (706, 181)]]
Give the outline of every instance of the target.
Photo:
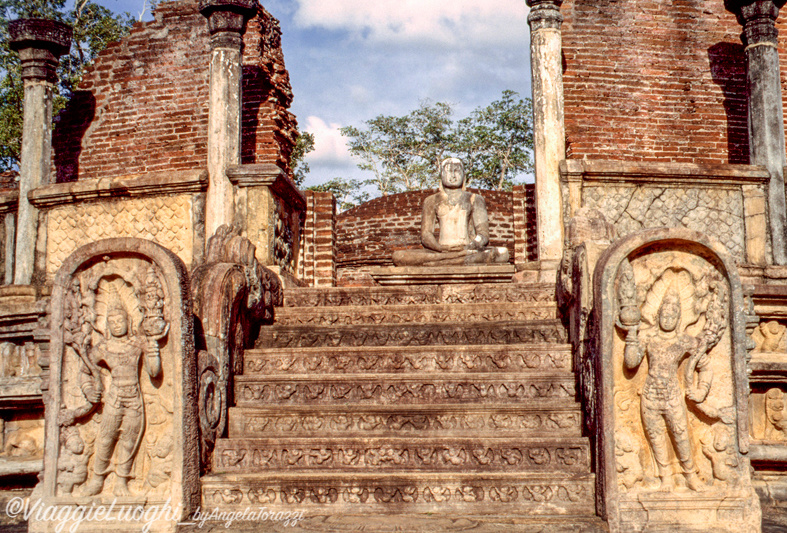
[[(74, 277), (66, 297), (64, 340), (78, 356), (76, 382), (85, 401), (62, 409), (58, 418), (61, 426), (70, 427), (100, 411), (91, 477), (82, 494), (101, 493), (106, 477), (114, 473), (114, 494), (129, 496), (145, 429), (140, 368), (151, 380), (162, 377), (159, 343), (169, 325), (159, 274), (152, 266), (142, 265), (130, 276), (107, 265), (99, 271), (93, 279), (91, 273)], [(79, 396), (73, 389), (66, 392)]]

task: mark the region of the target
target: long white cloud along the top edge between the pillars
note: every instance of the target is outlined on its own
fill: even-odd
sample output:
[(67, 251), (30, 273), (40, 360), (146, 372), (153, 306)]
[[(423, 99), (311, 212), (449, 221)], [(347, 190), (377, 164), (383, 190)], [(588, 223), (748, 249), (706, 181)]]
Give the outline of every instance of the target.
[(448, 47), (525, 42), (523, 0), (297, 0), (303, 27), (346, 30), (380, 43)]

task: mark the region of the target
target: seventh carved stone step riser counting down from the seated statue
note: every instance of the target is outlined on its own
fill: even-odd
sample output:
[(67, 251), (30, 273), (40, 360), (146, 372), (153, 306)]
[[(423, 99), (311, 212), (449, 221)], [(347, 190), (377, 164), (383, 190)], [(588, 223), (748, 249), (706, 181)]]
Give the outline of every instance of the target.
[(582, 437), (219, 439), (216, 473), (285, 470), (590, 473)]

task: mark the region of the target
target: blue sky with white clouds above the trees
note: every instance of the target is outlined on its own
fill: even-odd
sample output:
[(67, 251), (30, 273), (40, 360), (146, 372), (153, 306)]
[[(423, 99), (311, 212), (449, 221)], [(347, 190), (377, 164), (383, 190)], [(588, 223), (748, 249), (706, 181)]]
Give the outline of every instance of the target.
[[(134, 16), (145, 5), (98, 1)], [(505, 89), (530, 96), (525, 0), (262, 3), (281, 23), (292, 111), (316, 137), (306, 185), (363, 178), (338, 132), (342, 126), (403, 115), (425, 99), (452, 104), (460, 118)]]

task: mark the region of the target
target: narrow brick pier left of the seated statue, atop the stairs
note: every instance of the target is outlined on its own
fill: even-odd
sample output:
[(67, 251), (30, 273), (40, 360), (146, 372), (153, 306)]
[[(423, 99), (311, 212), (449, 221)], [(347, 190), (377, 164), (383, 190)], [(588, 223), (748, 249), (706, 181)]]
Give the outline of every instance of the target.
[(310, 287), (336, 285), (336, 199), (329, 192), (303, 191), (306, 220), (301, 232), (298, 277)]

